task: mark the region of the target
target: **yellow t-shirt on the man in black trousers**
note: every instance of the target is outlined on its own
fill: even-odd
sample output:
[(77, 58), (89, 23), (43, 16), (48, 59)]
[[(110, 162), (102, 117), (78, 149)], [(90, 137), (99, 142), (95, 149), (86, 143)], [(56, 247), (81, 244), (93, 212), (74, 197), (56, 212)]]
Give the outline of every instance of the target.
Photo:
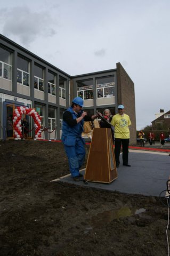
[(111, 124), (115, 126), (115, 138), (117, 139), (129, 139), (130, 132), (128, 126), (131, 125), (131, 120), (128, 115), (115, 115)]

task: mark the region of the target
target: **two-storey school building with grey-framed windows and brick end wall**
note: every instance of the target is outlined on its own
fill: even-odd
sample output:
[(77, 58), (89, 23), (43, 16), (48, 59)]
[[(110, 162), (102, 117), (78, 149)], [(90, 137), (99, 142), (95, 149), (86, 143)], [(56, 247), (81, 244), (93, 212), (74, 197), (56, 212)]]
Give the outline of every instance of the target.
[[(55, 129), (59, 139), (63, 112), (77, 96), (84, 99), (84, 110), (90, 114), (109, 108), (114, 115), (123, 104), (132, 122), (130, 143), (136, 144), (134, 83), (120, 63), (115, 69), (70, 76), (0, 34), (0, 139), (6, 139), (7, 120), (18, 106), (34, 108), (42, 125), (54, 130), (51, 139)], [(31, 130), (33, 118), (25, 117)], [(34, 129), (29, 137), (34, 137)]]

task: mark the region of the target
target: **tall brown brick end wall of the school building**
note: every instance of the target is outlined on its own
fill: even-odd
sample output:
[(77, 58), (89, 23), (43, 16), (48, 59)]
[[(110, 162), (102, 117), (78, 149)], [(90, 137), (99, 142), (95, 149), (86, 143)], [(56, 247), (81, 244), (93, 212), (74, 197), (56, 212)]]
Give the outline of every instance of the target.
[(134, 83), (120, 63), (116, 63), (116, 67), (117, 103), (118, 105), (124, 105), (125, 114), (127, 114), (131, 119), (132, 125), (129, 126), (131, 138), (129, 144), (136, 145), (136, 113)]

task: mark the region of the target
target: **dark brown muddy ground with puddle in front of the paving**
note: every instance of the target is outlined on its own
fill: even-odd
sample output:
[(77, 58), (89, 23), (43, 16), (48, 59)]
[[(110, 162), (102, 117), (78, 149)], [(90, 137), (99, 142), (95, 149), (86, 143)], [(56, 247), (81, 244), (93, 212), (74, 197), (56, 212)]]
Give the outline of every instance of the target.
[(69, 173), (58, 142), (1, 141), (0, 157), (1, 256), (168, 255), (159, 198), (50, 182)]

